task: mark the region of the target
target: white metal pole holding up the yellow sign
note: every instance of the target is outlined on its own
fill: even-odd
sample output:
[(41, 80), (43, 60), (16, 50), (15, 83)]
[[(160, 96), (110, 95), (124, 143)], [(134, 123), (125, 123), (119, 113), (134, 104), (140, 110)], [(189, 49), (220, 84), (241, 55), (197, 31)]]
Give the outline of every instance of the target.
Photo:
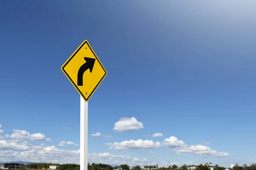
[(88, 162), (88, 102), (80, 96), (80, 170), (87, 170)]

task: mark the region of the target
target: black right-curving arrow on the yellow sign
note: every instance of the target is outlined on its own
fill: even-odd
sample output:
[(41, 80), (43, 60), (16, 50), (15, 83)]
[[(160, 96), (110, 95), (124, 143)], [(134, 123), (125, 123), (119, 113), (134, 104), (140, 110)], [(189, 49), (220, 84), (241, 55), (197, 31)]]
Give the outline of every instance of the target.
[(84, 57), (84, 60), (86, 61), (81, 67), (79, 68), (79, 71), (77, 73), (77, 85), (82, 86), (83, 85), (83, 75), (84, 72), (90, 69), (90, 73), (93, 71), (93, 66), (95, 63), (95, 59)]

